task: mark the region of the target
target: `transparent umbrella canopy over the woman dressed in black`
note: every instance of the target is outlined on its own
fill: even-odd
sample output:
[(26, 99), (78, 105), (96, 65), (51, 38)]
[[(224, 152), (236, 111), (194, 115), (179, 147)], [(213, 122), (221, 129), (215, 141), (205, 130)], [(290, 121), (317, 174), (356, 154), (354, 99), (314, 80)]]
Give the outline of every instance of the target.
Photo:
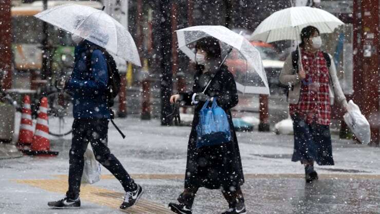
[[(235, 58), (244, 60), (246, 69), (242, 72), (232, 72), (237, 90), (249, 94), (269, 94), (267, 75), (259, 51), (240, 34), (223, 26), (193, 26), (177, 30), (178, 47), (190, 59), (195, 59), (195, 52), (189, 47), (191, 43), (204, 37), (214, 37), (220, 41), (222, 57), (231, 48), (236, 49)], [(224, 56), (223, 56), (224, 55)]]

